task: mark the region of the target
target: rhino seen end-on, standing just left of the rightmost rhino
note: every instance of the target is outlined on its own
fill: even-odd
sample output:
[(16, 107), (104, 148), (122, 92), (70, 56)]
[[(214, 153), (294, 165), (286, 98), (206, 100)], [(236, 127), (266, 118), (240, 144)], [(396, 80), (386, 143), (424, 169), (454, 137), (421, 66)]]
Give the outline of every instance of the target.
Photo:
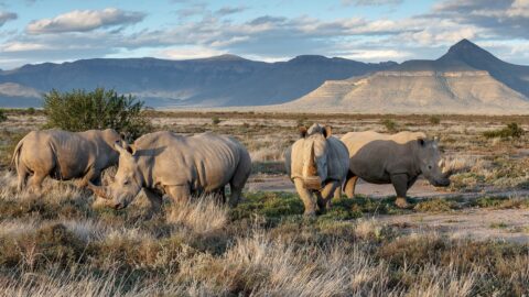
[(285, 167), (305, 205), (304, 215), (314, 216), (316, 210), (325, 210), (345, 182), (349, 154), (338, 139), (331, 136), (331, 127), (313, 124), (300, 132), (301, 139), (285, 152)]

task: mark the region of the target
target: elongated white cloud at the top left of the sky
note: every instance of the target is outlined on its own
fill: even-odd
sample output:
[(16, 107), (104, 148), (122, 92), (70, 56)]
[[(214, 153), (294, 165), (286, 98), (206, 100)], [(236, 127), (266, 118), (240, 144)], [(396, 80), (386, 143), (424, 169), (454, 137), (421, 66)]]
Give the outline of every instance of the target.
[(104, 10), (74, 10), (53, 19), (31, 22), (26, 31), (30, 34), (62, 32), (87, 32), (99, 28), (138, 23), (145, 16), (142, 12), (123, 11), (116, 8)]

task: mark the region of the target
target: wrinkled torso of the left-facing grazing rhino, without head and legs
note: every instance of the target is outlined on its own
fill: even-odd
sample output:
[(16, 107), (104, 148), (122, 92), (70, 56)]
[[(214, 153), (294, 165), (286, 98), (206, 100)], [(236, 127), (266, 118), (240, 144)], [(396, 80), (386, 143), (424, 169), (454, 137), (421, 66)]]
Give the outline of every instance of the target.
[[(236, 140), (203, 133), (194, 136), (155, 132), (134, 142), (136, 155), (144, 155), (140, 170), (152, 184), (188, 185), (193, 191), (209, 191), (229, 183), (239, 163), (249, 162)], [(150, 185), (153, 186), (153, 185)]]

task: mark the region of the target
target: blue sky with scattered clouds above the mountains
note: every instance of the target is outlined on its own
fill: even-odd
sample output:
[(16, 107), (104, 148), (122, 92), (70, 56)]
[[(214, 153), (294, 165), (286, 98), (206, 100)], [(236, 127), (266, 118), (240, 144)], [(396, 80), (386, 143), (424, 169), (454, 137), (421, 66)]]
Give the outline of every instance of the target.
[(529, 65), (529, 0), (0, 0), (0, 68), (96, 57), (438, 58)]

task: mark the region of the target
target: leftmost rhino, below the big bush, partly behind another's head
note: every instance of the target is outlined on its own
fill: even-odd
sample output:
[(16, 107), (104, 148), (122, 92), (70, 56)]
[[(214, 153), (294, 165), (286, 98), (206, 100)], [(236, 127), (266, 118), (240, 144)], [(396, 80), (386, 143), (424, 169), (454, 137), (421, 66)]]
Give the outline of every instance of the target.
[(82, 178), (100, 184), (101, 172), (118, 163), (114, 144), (120, 135), (112, 129), (68, 132), (63, 130), (32, 131), (17, 145), (12, 164), (22, 190), (29, 175), (31, 188), (41, 191), (42, 180), (51, 176), (61, 180)]

